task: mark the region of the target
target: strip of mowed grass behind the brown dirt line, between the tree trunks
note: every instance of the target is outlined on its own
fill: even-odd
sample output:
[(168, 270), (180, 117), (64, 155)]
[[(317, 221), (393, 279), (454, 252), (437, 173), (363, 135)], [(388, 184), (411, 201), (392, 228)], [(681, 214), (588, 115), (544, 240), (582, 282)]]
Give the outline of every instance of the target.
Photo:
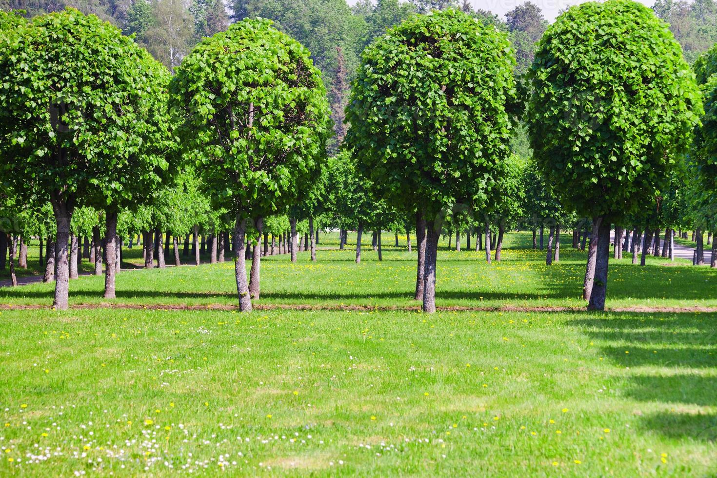
[[(377, 260), (370, 244), (364, 244), (361, 264), (354, 263), (352, 240), (355, 241), (353, 236), (346, 250), (339, 251), (336, 237), (322, 236), (320, 247), (325, 249), (318, 251), (315, 263), (310, 262), (308, 252), (299, 253), (296, 264), (290, 262), (288, 254), (262, 257), (262, 295), (258, 303), (419, 305), (413, 300), (416, 255), (405, 250), (403, 236), (398, 248), (392, 245), (392, 234), (383, 236), (382, 262)], [(587, 253), (572, 249), (571, 238), (564, 235), (561, 262), (548, 267), (546, 253), (528, 248), (529, 241), (529, 234), (509, 234), (503, 260), (493, 264), (485, 262), (484, 252), (455, 252), (447, 249), (447, 242), (442, 242), (437, 266), (437, 305), (584, 307), (582, 282)], [(610, 261), (607, 307), (717, 306), (717, 270), (693, 267), (682, 259), (670, 262), (655, 257), (648, 258), (647, 266), (639, 267), (631, 264), (627, 256)], [(125, 249), (125, 259), (129, 264), (141, 264), (141, 248)], [(51, 305), (53, 287), (50, 283), (1, 288), (0, 303)], [(103, 298), (103, 287), (104, 277), (71, 281), (70, 304), (237, 304), (232, 261), (121, 272), (115, 300)]]

